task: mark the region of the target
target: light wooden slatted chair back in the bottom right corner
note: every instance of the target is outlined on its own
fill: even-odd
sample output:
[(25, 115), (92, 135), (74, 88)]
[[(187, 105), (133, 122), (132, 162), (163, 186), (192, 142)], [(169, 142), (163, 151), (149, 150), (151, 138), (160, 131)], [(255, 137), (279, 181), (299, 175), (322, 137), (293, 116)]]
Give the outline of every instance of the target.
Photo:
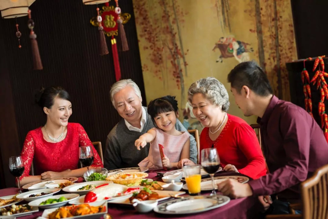
[(328, 164), (301, 183), (303, 218), (328, 218)]

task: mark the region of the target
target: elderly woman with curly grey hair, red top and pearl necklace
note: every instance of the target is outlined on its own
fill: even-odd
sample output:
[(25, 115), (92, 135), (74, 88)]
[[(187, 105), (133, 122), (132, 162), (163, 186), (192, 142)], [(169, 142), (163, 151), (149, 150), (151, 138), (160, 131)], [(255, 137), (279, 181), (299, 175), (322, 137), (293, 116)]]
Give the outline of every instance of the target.
[[(223, 169), (253, 179), (266, 174), (263, 154), (254, 130), (239, 117), (227, 114), (229, 96), (214, 77), (202, 78), (188, 90), (193, 113), (205, 128), (200, 134), (200, 149), (215, 147)], [(178, 167), (191, 164), (183, 159)]]

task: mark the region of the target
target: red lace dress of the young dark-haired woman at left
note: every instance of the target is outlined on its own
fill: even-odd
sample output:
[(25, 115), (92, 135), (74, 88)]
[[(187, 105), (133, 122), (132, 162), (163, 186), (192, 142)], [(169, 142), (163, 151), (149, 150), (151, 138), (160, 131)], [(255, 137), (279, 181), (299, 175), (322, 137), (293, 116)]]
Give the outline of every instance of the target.
[[(25, 170), (21, 179), (29, 176), (33, 161), (35, 175), (45, 171), (61, 172), (66, 169), (77, 169), (79, 146), (92, 145), (87, 133), (79, 123), (68, 123), (67, 135), (57, 143), (47, 142), (43, 138), (42, 127), (27, 133), (21, 153)], [(92, 145), (94, 160), (92, 166), (104, 167)]]

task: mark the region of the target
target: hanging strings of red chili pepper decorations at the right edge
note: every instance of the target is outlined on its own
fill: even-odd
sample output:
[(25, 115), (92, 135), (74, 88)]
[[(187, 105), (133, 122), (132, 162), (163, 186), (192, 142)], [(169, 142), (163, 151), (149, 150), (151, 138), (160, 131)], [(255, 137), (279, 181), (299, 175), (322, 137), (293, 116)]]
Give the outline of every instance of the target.
[[(312, 58), (307, 58), (303, 61), (304, 69), (301, 72), (301, 79), (303, 83), (303, 93), (305, 96), (304, 103), (305, 103), (305, 110), (313, 117), (312, 113), (312, 100), (311, 100), (311, 88), (310, 83), (313, 83), (313, 85), (317, 84), (317, 90), (320, 89), (320, 101), (318, 103), (318, 114), (321, 119), (321, 128), (324, 128), (324, 135), (328, 142), (328, 116), (325, 111), (325, 104), (324, 100), (328, 99), (328, 86), (327, 82), (324, 77), (328, 77), (328, 73), (326, 73), (325, 65), (323, 58), (325, 55), (318, 56), (314, 62), (312, 72), (315, 72), (315, 70), (318, 68), (318, 70), (315, 72), (314, 76), (310, 80), (309, 73), (307, 72), (305, 68), (305, 61), (306, 60), (312, 60)], [(320, 64), (320, 65), (319, 65)]]

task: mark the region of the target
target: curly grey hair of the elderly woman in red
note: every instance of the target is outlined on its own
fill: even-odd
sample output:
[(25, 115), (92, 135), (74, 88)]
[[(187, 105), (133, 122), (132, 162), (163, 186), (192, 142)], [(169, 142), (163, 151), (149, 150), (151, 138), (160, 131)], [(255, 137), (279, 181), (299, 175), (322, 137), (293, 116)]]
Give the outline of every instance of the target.
[(227, 112), (230, 106), (229, 95), (224, 85), (215, 77), (207, 77), (192, 83), (188, 89), (188, 101), (194, 94), (201, 93), (217, 106), (222, 106), (222, 110)]

